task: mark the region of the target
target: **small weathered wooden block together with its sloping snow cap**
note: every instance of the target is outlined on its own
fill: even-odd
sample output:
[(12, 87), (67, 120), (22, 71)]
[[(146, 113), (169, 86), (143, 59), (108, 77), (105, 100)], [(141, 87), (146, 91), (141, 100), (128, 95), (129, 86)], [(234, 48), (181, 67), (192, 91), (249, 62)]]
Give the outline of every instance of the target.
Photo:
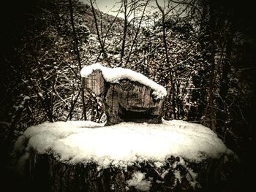
[(162, 123), (165, 88), (130, 69), (110, 69), (100, 64), (81, 72), (86, 91), (100, 97), (107, 125), (121, 122)]

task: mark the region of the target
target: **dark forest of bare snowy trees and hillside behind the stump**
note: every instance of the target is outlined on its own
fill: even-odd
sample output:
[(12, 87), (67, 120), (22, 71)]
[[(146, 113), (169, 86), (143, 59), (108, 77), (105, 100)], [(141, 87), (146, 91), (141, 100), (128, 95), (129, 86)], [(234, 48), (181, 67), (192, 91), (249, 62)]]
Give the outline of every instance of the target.
[(82, 66), (101, 62), (165, 86), (163, 118), (211, 128), (241, 158), (239, 177), (248, 179), (256, 74), (252, 4), (169, 0), (148, 12), (153, 2), (117, 2), (117, 16), (100, 12), (94, 1), (1, 7), (1, 165), (12, 164), (13, 143), (29, 126), (105, 121), (101, 101), (84, 95), (80, 77)]

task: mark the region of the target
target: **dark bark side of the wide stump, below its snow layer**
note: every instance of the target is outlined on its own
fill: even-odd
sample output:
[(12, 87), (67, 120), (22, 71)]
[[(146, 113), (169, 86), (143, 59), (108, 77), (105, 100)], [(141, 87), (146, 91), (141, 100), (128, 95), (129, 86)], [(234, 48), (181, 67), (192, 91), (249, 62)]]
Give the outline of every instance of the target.
[[(207, 159), (199, 164), (187, 161), (187, 166), (174, 166), (180, 158), (171, 156), (162, 167), (146, 161), (125, 170), (115, 166), (98, 169), (94, 162), (69, 164), (53, 154), (36, 151), (30, 152), (29, 159), (30, 189), (44, 192), (218, 191), (223, 169), (223, 158)], [(191, 166), (199, 173), (196, 181), (189, 173)], [(176, 177), (177, 170), (181, 173), (180, 179)]]

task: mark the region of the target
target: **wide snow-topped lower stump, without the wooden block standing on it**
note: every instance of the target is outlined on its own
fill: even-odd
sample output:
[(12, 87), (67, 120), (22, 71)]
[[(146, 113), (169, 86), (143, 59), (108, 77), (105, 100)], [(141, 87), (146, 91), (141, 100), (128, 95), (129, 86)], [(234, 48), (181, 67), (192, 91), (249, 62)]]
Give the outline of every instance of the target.
[(31, 182), (43, 191), (189, 191), (216, 184), (230, 154), (213, 131), (196, 123), (103, 126), (31, 126), (15, 145), (19, 152), (26, 147), (19, 164), (29, 159)]

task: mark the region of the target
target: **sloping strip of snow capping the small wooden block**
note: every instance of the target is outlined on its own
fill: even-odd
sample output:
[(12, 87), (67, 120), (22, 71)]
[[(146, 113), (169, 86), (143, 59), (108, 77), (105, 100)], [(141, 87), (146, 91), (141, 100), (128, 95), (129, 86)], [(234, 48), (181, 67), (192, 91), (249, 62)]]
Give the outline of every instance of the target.
[(88, 77), (94, 70), (102, 71), (102, 75), (107, 82), (118, 83), (119, 80), (129, 79), (132, 81), (140, 82), (141, 84), (152, 88), (154, 90), (152, 94), (157, 99), (162, 99), (167, 95), (167, 91), (162, 85), (159, 85), (157, 84), (157, 82), (149, 80), (148, 77), (138, 72), (132, 71), (131, 69), (124, 69), (121, 67), (108, 68), (102, 66), (102, 64), (96, 63), (90, 66), (83, 66), (80, 74), (82, 77)]

